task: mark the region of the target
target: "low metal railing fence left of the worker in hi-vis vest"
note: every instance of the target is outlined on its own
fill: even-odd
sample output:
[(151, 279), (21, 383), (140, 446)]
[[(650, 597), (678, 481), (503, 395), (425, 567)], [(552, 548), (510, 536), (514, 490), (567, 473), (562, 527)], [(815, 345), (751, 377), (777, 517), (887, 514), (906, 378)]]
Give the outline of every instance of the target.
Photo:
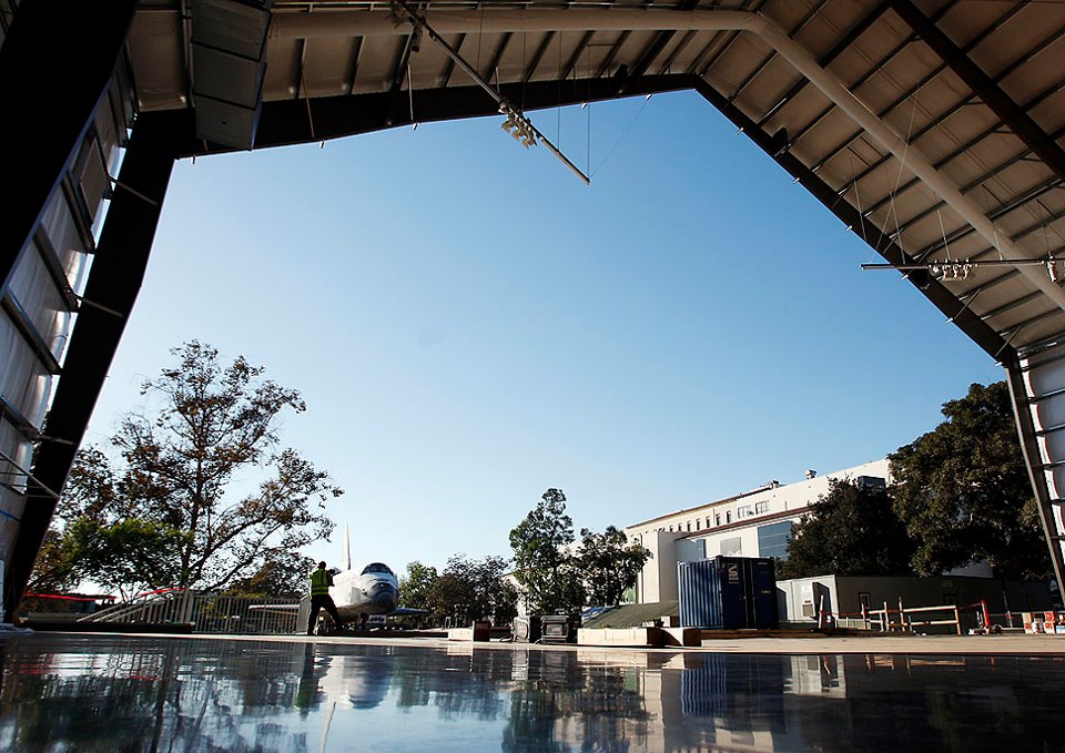
[[(301, 599), (234, 597), (164, 589), (80, 618), (79, 622), (192, 625), (197, 633), (264, 635), (297, 632)], [(305, 613), (304, 613), (305, 614)], [(304, 615), (304, 620), (306, 617)]]

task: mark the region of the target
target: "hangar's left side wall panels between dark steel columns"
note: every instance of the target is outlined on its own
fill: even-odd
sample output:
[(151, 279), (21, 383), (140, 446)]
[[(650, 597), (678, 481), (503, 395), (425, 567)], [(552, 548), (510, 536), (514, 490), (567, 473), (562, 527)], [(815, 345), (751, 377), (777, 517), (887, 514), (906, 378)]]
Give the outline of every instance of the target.
[(0, 284), (0, 562), (3, 571), (28, 505), (55, 489), (31, 481), (70, 336), (134, 115), (129, 71), (120, 64), (106, 95)]

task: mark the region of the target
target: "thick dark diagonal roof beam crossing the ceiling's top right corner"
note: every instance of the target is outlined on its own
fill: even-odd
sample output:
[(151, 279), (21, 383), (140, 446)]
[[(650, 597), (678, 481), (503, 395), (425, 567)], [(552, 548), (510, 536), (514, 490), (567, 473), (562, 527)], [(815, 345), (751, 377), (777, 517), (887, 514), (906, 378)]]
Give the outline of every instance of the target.
[(990, 75), (909, 0), (889, 0), (895, 11), (965, 85), (1054, 172), (1065, 177), (1065, 150), (1057, 145)]

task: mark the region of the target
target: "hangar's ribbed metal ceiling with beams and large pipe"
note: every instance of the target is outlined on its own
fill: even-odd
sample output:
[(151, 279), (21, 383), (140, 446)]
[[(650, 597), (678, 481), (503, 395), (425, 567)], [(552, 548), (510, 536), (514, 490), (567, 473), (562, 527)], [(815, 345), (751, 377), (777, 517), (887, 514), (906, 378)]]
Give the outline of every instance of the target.
[[(135, 17), (141, 115), (180, 154), (496, 112), (442, 45), (412, 50), (387, 2), (254, 4)], [(407, 7), (516, 108), (697, 89), (888, 262), (914, 264), (910, 279), (997, 358), (1065, 328), (1039, 263), (1065, 227), (1065, 3)], [(926, 268), (958, 260), (980, 264)]]

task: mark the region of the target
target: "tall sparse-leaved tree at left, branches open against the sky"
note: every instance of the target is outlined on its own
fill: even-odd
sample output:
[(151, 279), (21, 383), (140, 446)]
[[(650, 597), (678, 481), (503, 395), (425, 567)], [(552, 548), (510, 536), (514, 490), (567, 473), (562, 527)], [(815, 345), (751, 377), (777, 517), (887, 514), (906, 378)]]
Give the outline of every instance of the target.
[[(171, 353), (176, 365), (141, 389), (158, 399), (154, 410), (125, 415), (111, 439), (122, 462), (99, 448), (79, 452), (64, 490), (68, 520), (113, 527), (136, 518), (181, 531), (172, 584), (203, 590), (251, 582), (271, 562), (328, 539), (324, 502), (343, 491), (278, 447), (278, 416), (306, 409), (300, 394), (243, 357), (223, 365), (196, 340)], [(263, 478), (235, 498), (233, 482), (248, 471)]]

